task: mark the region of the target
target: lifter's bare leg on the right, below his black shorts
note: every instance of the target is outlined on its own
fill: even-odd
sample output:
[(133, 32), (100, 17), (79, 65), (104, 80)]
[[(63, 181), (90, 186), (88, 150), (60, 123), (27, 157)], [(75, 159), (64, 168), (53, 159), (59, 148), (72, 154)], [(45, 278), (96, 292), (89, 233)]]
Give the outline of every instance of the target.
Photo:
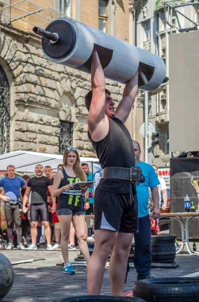
[(133, 233), (118, 233), (109, 263), (109, 276), (112, 295), (123, 296), (126, 266), (132, 239)]

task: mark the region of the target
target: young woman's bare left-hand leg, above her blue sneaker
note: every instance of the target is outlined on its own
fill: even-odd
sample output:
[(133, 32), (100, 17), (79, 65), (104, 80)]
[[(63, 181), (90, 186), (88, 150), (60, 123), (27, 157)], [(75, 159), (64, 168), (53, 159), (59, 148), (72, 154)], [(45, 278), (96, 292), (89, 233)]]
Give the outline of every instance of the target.
[(64, 264), (68, 264), (68, 239), (70, 234), (70, 225), (71, 225), (71, 219), (72, 215), (59, 215), (59, 221), (60, 221), (60, 229), (61, 229), (61, 251), (62, 256), (64, 258)]

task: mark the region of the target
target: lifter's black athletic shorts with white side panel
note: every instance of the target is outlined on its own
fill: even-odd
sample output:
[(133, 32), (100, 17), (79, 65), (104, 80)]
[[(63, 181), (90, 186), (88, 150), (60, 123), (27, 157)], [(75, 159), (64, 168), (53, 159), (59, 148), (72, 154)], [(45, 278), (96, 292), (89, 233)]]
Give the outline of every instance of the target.
[(95, 190), (94, 230), (138, 232), (137, 195)]

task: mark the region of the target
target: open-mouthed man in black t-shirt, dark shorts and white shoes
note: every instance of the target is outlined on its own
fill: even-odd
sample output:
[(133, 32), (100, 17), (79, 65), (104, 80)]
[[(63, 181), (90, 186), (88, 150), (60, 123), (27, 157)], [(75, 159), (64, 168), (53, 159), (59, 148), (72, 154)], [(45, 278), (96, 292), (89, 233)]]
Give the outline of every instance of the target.
[[(47, 240), (47, 250), (53, 250), (51, 246), (51, 228), (49, 225), (48, 205), (47, 205), (47, 190), (52, 193), (52, 181), (43, 176), (43, 166), (37, 165), (35, 168), (36, 176), (30, 179), (27, 183), (26, 192), (23, 199), (22, 211), (26, 209), (26, 204), (31, 194), (31, 238), (32, 245), (27, 248), (28, 250), (37, 250), (37, 224), (38, 217), (41, 215), (42, 223), (44, 225), (44, 231)], [(52, 198), (53, 199), (53, 198)], [(55, 205), (52, 206), (52, 212), (55, 211)]]

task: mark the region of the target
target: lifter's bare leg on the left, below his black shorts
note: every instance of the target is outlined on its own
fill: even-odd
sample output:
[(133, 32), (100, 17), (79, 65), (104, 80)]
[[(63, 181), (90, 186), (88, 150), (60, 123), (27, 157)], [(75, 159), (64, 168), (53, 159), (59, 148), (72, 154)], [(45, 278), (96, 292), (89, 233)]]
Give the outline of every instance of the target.
[[(104, 268), (113, 248), (118, 232), (110, 230), (95, 230), (95, 246), (88, 263), (87, 287), (88, 294), (100, 294)], [(124, 269), (126, 272), (126, 267)]]

